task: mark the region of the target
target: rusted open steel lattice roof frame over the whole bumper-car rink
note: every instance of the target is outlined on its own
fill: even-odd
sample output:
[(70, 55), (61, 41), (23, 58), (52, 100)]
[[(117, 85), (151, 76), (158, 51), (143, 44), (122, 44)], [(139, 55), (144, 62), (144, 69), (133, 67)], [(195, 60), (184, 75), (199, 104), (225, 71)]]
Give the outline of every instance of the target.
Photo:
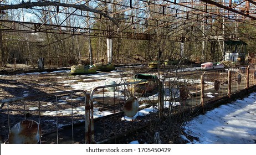
[[(174, 41), (223, 40), (233, 37), (234, 32), (228, 27), (231, 23), (255, 25), (256, 19), (255, 1), (89, 0), (75, 1), (71, 6), (66, 4), (62, 1), (16, 4), (3, 1), (0, 29), (146, 40), (154, 39), (155, 35)], [(31, 21), (4, 18), (10, 11), (21, 12), (22, 8), (30, 12)], [(216, 33), (209, 34), (206, 30)], [(192, 37), (186, 37), (186, 33), (193, 33)]]

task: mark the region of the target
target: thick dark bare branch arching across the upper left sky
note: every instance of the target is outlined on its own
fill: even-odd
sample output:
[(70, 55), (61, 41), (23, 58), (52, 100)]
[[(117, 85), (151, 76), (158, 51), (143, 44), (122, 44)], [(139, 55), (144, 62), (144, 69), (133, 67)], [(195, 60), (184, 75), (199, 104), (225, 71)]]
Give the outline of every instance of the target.
[[(106, 13), (97, 10), (97, 9), (93, 9), (90, 7), (87, 7), (85, 5), (82, 4), (67, 4), (67, 3), (59, 3), (59, 2), (22, 2), (20, 4), (13, 4), (13, 5), (1, 5), (0, 6), (0, 11), (1, 10), (8, 10), (8, 9), (19, 9), (19, 8), (33, 8), (33, 7), (45, 7), (45, 6), (61, 6), (61, 7), (69, 7), (69, 8), (76, 8), (79, 9), (81, 11), (89, 11), (89, 12), (93, 12), (93, 13), (97, 13), (97, 14), (101, 14), (102, 16), (108, 18), (111, 20), (111, 22), (113, 22), (114, 24), (118, 24), (118, 22), (116, 21), (116, 18), (112, 18), (110, 16), (108, 16)], [(117, 25), (118, 27), (118, 25)]]

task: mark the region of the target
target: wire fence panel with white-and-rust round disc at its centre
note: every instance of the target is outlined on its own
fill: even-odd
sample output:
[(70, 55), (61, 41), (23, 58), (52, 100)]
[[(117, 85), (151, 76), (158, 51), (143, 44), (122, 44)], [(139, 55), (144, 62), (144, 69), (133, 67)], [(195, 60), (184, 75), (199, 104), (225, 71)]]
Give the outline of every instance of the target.
[(150, 125), (158, 117), (159, 80), (139, 80), (95, 87), (90, 94), (94, 105), (95, 141), (117, 138)]

